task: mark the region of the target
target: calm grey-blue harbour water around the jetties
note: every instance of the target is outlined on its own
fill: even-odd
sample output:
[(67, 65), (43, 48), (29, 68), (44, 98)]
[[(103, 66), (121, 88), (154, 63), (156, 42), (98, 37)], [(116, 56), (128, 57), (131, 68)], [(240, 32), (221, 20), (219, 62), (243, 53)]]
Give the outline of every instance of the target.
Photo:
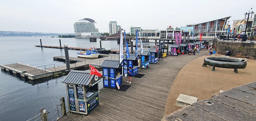
[[(59, 39), (61, 39), (62, 46), (67, 43), (69, 47), (89, 48), (92, 45), (100, 47), (99, 40), (89, 42), (88, 38), (0, 37), (0, 65), (17, 62), (31, 66), (65, 65), (64, 62), (54, 61), (52, 57), (65, 56), (64, 49), (34, 47), (34, 45), (40, 45), (40, 38), (42, 45), (59, 46)], [(155, 43), (143, 44), (153, 45)], [(119, 45), (116, 40), (102, 41), (102, 48), (118, 50)], [(76, 57), (77, 52), (79, 51), (69, 50), (69, 56)], [(53, 67), (53, 65), (48, 67)], [(26, 79), (1, 71), (0, 121), (28, 120), (39, 114), (40, 109), (49, 110), (56, 104), (60, 104), (61, 97), (67, 98), (65, 84), (61, 83), (65, 77), (40, 79), (36, 83), (31, 83)]]

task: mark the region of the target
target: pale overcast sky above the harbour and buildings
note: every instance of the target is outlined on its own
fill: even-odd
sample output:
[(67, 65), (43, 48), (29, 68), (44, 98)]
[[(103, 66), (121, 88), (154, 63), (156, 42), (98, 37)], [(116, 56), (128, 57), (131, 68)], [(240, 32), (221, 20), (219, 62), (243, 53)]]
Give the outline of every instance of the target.
[[(254, 5), (254, 6), (253, 6)], [(109, 21), (122, 29), (166, 30), (227, 16), (244, 19), (256, 0), (1, 0), (0, 30), (74, 33), (73, 23), (95, 20), (100, 33), (109, 32)]]

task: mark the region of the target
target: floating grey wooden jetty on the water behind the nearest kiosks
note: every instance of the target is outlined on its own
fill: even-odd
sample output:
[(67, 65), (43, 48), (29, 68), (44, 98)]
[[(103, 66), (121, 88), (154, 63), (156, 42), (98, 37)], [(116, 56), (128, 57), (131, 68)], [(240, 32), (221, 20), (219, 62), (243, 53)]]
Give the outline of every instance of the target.
[[(118, 59), (118, 55), (106, 55), (100, 54), (104, 56), (103, 58), (74, 58), (69, 57), (69, 60), (74, 63), (70, 64), (70, 69), (77, 69), (80, 67), (88, 67), (90, 65), (94, 65), (95, 67), (99, 67), (100, 64), (105, 59)], [(54, 56), (53, 59), (65, 61), (65, 56)], [(53, 66), (50, 68), (46, 68), (48, 66)], [(61, 74), (66, 72), (66, 65), (55, 66), (55, 64), (50, 65), (42, 65), (42, 66), (31, 66), (23, 63), (14, 63), (7, 65), (0, 65), (1, 70), (12, 72), (13, 74), (19, 74), (21, 77), (28, 78), (29, 80), (36, 80), (46, 77), (51, 77), (56, 74)]]

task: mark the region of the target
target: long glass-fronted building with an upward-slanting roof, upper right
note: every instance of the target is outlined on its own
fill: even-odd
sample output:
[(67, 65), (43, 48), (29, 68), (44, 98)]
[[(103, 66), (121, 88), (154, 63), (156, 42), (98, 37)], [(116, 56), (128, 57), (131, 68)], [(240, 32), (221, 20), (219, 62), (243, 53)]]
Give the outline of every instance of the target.
[(230, 29), (230, 26), (226, 26), (230, 17), (231, 16), (203, 23), (189, 24), (187, 27), (193, 27), (195, 36), (198, 36), (201, 32), (203, 36), (218, 36), (227, 33), (227, 27)]

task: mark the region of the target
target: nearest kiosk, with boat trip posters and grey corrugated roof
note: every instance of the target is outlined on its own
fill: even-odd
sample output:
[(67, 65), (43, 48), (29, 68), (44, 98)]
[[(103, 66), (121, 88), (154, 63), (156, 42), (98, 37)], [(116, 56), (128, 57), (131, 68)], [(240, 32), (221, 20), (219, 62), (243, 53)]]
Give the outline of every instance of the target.
[(90, 76), (89, 71), (71, 70), (62, 81), (66, 83), (69, 112), (87, 115), (99, 105), (100, 80), (95, 76)]

